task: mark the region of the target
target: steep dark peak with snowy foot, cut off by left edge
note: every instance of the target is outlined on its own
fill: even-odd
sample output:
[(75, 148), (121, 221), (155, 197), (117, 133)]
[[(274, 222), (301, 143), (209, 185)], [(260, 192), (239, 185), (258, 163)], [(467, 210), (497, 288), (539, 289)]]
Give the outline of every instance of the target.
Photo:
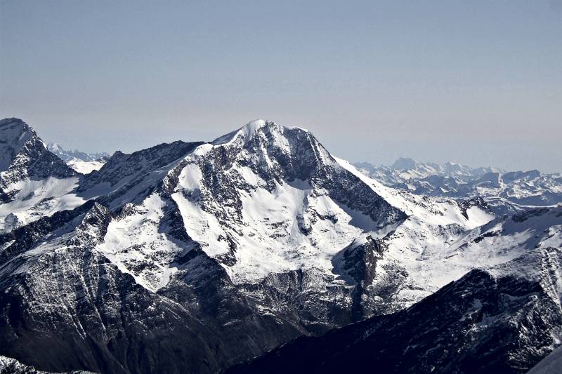
[(0, 121), (0, 165), (0, 232), (84, 202), (77, 173), (20, 119)]

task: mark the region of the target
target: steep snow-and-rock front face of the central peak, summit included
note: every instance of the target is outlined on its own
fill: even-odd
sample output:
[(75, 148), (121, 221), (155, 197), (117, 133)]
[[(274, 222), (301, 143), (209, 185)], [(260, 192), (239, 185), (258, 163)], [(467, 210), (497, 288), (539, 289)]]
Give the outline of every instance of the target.
[(201, 145), (164, 182), (188, 235), (237, 282), (318, 268), (406, 218), (308, 131), (270, 121)]

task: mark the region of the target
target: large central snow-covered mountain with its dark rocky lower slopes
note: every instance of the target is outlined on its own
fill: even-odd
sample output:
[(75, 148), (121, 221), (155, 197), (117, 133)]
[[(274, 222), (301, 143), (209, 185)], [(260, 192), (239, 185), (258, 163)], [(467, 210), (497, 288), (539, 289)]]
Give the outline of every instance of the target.
[(58, 165), (60, 194), (0, 204), (22, 207), (0, 234), (0, 354), (41, 370), (214, 373), (562, 246), (559, 209), (386, 187), (271, 121)]

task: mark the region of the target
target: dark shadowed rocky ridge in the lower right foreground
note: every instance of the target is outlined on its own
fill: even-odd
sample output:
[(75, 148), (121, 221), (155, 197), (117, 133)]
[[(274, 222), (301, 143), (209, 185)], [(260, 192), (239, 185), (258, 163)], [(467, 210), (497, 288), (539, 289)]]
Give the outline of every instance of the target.
[(473, 270), (402, 312), (298, 338), (226, 373), (525, 373), (561, 323), (540, 283)]

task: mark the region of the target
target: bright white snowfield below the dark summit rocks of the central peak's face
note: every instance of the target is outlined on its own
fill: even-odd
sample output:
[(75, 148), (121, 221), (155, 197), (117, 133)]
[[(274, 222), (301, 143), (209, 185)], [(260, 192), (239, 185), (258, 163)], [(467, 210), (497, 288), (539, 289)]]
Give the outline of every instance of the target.
[[(317, 267), (331, 272), (332, 258), (362, 234), (353, 218), (327, 195), (313, 196), (303, 183), (258, 188), (242, 196), (244, 225), (237, 237), (235, 280), (270, 272)], [(329, 215), (320, 219), (316, 215)], [(336, 222), (334, 222), (336, 221)], [(308, 235), (303, 229), (310, 229)]]

